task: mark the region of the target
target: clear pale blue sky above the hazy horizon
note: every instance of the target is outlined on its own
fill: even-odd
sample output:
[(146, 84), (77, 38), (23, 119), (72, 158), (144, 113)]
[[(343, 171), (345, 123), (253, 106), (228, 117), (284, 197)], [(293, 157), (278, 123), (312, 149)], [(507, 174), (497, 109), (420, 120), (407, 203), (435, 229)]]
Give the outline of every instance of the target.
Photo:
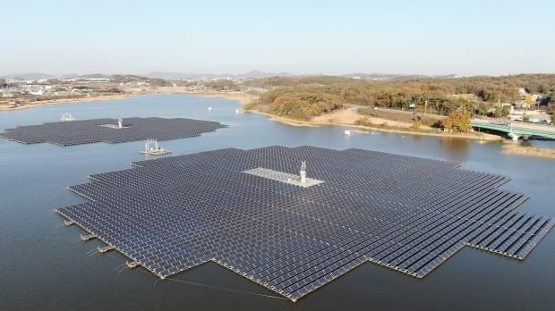
[(15, 72), (555, 72), (555, 1), (3, 1)]

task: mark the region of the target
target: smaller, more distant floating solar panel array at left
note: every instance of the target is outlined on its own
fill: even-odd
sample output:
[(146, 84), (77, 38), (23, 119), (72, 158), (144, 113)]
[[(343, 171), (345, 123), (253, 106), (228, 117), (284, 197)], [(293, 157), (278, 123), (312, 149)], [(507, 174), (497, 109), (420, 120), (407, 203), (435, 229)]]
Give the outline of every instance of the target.
[(116, 119), (51, 122), (8, 129), (0, 137), (23, 144), (49, 142), (59, 146), (73, 146), (97, 142), (115, 144), (143, 139), (184, 139), (226, 127), (219, 122), (183, 118), (125, 118), (122, 128), (118, 128), (117, 124)]

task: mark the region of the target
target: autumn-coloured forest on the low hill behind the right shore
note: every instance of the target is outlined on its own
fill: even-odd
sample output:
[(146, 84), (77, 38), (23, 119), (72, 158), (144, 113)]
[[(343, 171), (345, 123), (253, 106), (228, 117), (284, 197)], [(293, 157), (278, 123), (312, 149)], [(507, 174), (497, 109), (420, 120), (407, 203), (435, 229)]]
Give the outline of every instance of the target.
[(260, 95), (258, 102), (245, 108), (298, 120), (310, 120), (344, 104), (407, 110), (414, 103), (422, 110), (425, 105), (428, 113), (448, 115), (457, 109), (465, 109), (471, 114), (485, 114), (498, 102), (514, 104), (525, 99), (519, 88), (525, 88), (529, 94), (544, 96), (540, 102), (529, 104), (539, 105), (549, 113), (555, 111), (555, 74), (390, 80), (336, 76), (272, 77), (243, 81), (243, 85), (269, 89)]

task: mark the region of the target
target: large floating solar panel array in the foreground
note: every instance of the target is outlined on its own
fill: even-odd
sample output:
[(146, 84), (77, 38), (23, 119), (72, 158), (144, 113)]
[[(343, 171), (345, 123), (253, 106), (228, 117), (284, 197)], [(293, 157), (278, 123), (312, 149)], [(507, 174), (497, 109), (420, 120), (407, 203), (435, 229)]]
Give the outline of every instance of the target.
[[(303, 160), (323, 182), (252, 174), (296, 174)], [(226, 148), (134, 165), (71, 187), (91, 202), (57, 213), (160, 278), (212, 261), (293, 301), (368, 261), (422, 278), (465, 245), (523, 259), (554, 224), (515, 212), (528, 197), (498, 189), (507, 177), (361, 149)]]

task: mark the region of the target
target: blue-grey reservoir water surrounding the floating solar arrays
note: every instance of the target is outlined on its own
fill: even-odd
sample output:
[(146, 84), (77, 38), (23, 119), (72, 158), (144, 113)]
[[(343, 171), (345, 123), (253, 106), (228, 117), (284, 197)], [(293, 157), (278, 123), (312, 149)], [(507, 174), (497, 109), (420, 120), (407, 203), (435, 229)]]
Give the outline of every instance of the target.
[[(209, 107), (212, 109), (209, 111)], [(465, 169), (512, 178), (502, 189), (532, 195), (518, 211), (555, 217), (555, 160), (501, 155), (501, 143), (478, 143), (371, 132), (344, 135), (342, 126), (295, 127), (223, 99), (153, 95), (73, 105), (50, 105), (0, 113), (0, 130), (77, 119), (159, 116), (218, 121), (229, 128), (192, 139), (161, 142), (173, 155), (223, 147), (270, 145), (351, 147), (445, 159)], [(555, 149), (555, 142), (531, 142)], [(464, 248), (422, 280), (370, 263), (292, 303), (215, 264), (201, 265), (160, 281), (121, 265), (116, 252), (90, 256), (98, 240), (73, 242), (85, 232), (53, 212), (85, 202), (65, 187), (87, 176), (131, 168), (150, 158), (143, 141), (58, 147), (0, 139), (0, 309), (535, 309), (555, 306), (555, 233), (524, 261)], [(449, 178), (449, 176), (446, 176)], [(130, 206), (131, 208), (131, 206)], [(121, 271), (120, 271), (121, 270)]]

